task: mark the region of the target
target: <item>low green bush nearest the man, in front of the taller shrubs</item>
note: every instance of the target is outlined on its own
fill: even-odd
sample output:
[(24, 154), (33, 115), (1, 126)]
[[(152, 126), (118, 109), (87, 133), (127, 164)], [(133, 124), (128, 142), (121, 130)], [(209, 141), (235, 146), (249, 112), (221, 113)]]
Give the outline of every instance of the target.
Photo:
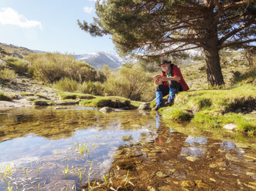
[(92, 95), (104, 95), (104, 85), (101, 82), (83, 82), (79, 85), (78, 91)]

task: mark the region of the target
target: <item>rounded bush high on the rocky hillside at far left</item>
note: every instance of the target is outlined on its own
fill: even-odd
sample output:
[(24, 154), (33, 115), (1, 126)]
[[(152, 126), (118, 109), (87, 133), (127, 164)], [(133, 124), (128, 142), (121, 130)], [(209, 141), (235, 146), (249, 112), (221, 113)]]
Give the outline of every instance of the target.
[(26, 61), (15, 58), (15, 57), (9, 57), (8, 59), (5, 59), (6, 65), (11, 67), (15, 70), (15, 72), (19, 74), (25, 74), (28, 72), (29, 65)]

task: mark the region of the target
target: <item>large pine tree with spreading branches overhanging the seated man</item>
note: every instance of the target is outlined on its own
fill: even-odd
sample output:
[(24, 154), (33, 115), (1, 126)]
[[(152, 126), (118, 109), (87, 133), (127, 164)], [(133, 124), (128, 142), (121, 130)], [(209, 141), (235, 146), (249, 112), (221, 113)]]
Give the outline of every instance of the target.
[(78, 25), (111, 35), (121, 55), (159, 57), (203, 49), (210, 85), (224, 84), (220, 49), (256, 42), (254, 0), (97, 1), (94, 22)]

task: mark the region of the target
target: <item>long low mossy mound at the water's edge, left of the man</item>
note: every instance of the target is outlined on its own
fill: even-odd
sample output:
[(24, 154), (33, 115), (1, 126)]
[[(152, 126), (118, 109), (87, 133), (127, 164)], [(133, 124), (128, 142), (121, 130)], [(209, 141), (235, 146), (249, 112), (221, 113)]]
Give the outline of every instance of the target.
[(97, 97), (95, 99), (84, 100), (80, 106), (88, 107), (111, 107), (111, 108), (131, 108), (131, 101), (121, 97)]

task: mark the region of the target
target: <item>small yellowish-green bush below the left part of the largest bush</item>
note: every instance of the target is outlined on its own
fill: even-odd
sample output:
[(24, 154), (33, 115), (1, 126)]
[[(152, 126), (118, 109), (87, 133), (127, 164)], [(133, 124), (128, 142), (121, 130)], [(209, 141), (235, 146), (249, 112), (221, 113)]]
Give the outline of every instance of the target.
[(64, 78), (54, 82), (53, 87), (63, 92), (75, 92), (78, 88), (78, 82), (73, 79)]

